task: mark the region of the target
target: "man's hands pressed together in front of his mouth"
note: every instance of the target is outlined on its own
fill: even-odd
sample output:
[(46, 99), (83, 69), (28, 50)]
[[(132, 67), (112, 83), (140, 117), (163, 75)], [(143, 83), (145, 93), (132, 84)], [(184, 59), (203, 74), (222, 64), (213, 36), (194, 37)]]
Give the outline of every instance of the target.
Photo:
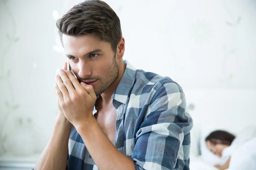
[(93, 117), (96, 94), (93, 86), (86, 85), (74, 77), (71, 71), (59, 70), (55, 81), (60, 90), (57, 93), (59, 104), (65, 117), (75, 127), (89, 122)]

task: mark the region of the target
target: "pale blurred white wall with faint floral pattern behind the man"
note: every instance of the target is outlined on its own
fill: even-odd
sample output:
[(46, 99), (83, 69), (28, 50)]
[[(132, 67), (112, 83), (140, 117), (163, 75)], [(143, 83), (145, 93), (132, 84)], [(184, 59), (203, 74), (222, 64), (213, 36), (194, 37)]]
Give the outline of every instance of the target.
[[(56, 20), (81, 0), (0, 0), (0, 166), (33, 167), (58, 113), (55, 71), (66, 57)], [(195, 126), (238, 133), (256, 119), (256, 0), (105, 0), (125, 56), (184, 90)], [(208, 131), (207, 131), (208, 130)]]

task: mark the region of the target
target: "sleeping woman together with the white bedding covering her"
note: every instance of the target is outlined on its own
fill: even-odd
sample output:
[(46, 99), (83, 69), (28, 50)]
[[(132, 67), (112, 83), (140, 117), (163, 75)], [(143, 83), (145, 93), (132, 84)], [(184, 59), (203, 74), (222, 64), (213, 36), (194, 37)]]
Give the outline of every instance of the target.
[(205, 139), (212, 153), (227, 160), (224, 165), (215, 165), (220, 170), (256, 170), (256, 127), (248, 126), (237, 136), (216, 130)]

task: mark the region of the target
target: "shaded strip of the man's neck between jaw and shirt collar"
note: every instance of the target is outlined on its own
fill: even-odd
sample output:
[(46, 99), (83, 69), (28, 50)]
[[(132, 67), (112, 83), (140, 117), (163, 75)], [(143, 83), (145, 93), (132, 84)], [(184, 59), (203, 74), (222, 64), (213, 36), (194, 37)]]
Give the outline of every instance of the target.
[[(105, 90), (100, 97), (102, 98), (102, 102), (105, 104), (109, 104), (109, 102), (112, 101), (112, 95), (115, 92), (120, 80), (122, 79), (122, 76), (125, 72), (126, 64), (122, 61), (120, 61), (119, 64), (119, 74), (116, 78), (116, 80)], [(111, 102), (112, 103), (112, 102)]]

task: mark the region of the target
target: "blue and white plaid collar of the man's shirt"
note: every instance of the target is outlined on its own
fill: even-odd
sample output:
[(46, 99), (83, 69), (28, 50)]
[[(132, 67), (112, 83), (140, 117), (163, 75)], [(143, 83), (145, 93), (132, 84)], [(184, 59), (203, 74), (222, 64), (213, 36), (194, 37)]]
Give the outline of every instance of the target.
[(117, 85), (115, 92), (112, 95), (112, 98), (123, 104), (126, 103), (129, 92), (134, 84), (134, 79), (136, 75), (136, 69), (131, 65), (130, 62), (124, 60), (126, 64), (125, 72)]

